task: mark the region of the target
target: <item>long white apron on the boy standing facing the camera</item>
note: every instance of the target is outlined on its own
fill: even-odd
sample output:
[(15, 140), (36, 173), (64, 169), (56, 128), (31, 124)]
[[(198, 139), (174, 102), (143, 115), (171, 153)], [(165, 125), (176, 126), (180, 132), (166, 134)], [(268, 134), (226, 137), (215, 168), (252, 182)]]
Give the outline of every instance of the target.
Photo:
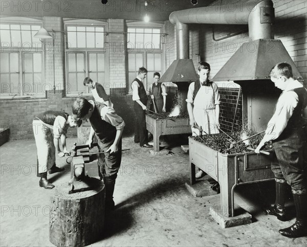
[[(201, 86), (193, 103), (193, 116), (198, 126), (207, 134), (220, 133), (215, 127), (214, 91), (212, 86)], [(192, 127), (192, 135), (199, 135), (199, 130)], [(203, 134), (205, 134), (203, 132)]]

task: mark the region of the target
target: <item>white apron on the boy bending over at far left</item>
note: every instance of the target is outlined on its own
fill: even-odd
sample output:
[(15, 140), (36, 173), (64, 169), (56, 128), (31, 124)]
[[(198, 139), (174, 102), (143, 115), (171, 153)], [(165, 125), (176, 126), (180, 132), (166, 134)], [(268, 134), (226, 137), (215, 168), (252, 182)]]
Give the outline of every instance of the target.
[(52, 129), (40, 120), (33, 120), (32, 125), (37, 148), (37, 172), (47, 172), (55, 164)]

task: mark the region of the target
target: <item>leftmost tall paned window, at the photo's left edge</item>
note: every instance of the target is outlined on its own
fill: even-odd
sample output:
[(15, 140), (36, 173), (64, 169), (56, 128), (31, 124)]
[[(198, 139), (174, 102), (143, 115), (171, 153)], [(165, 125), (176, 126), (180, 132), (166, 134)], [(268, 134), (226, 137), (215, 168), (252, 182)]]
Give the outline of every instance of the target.
[[(28, 18), (27, 18), (28, 19)], [(39, 22), (18, 24), (2, 19), (0, 24), (1, 97), (45, 95), (42, 74), (42, 49), (34, 34)]]

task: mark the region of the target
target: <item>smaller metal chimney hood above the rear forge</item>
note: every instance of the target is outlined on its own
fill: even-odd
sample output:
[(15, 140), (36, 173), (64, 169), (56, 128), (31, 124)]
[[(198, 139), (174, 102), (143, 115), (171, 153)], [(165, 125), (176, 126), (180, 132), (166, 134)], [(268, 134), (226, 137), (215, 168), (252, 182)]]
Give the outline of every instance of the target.
[(192, 59), (174, 60), (159, 82), (192, 82), (198, 80)]

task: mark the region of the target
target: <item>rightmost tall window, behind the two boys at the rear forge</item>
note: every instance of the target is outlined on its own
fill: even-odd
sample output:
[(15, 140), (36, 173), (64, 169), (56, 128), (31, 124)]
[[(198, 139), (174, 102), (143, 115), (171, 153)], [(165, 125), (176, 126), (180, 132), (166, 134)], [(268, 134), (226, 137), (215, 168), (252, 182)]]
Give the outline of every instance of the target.
[(148, 70), (144, 86), (149, 90), (153, 82), (153, 73), (162, 75), (161, 28), (128, 28), (128, 75), (129, 91), (131, 82), (138, 75), (138, 70), (144, 66)]

